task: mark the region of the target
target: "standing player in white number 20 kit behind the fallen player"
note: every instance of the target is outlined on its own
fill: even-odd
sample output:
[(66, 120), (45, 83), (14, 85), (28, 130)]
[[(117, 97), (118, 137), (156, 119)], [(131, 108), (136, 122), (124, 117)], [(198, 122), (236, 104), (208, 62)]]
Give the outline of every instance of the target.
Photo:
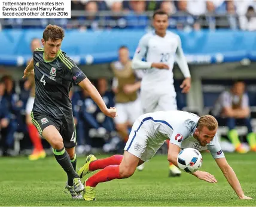
[[(132, 60), (134, 70), (144, 69), (141, 82), (141, 103), (144, 113), (177, 110), (176, 92), (173, 86), (173, 63), (178, 63), (185, 79), (181, 84), (182, 92), (190, 90), (191, 78), (187, 60), (182, 51), (181, 39), (167, 31), (168, 14), (157, 10), (153, 15), (154, 32), (142, 36)], [(142, 61), (145, 58), (145, 61)], [(143, 166), (138, 169), (142, 170)], [(170, 163), (170, 176), (181, 174)]]

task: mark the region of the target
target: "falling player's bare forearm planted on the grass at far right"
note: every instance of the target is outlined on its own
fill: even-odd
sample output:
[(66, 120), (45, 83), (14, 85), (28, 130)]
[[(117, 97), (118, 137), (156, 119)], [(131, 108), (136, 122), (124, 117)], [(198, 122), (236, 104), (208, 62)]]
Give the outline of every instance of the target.
[(217, 165), (220, 167), (230, 186), (236, 192), (239, 199), (252, 199), (251, 197), (245, 196), (245, 194), (243, 193), (239, 180), (237, 179), (236, 174), (234, 173), (231, 166), (228, 165), (225, 157), (217, 158), (215, 159), (215, 161), (217, 162)]

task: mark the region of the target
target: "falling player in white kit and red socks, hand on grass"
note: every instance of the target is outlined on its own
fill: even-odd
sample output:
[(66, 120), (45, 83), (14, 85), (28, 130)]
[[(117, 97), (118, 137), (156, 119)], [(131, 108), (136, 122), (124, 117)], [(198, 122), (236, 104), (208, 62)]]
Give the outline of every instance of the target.
[[(173, 110), (140, 116), (133, 124), (123, 156), (114, 155), (105, 159), (87, 156), (86, 163), (78, 170), (80, 178), (97, 169), (102, 170), (86, 180), (84, 200), (95, 200), (97, 184), (132, 176), (136, 167), (150, 160), (166, 139), (170, 140), (167, 156), (169, 162), (178, 166), (176, 160), (181, 149), (208, 149), (239, 199), (251, 199), (243, 193), (236, 174), (225, 159), (218, 143), (217, 128), (218, 122), (211, 115), (199, 118), (192, 113)], [(214, 175), (208, 172), (196, 171), (191, 174), (200, 180), (217, 183)]]

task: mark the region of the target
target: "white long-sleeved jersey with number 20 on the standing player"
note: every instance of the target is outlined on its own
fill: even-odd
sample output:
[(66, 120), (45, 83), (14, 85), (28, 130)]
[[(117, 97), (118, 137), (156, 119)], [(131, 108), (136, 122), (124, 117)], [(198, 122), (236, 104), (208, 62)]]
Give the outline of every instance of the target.
[[(133, 69), (144, 69), (144, 76), (142, 78), (141, 89), (163, 89), (163, 87), (175, 93), (175, 89), (173, 87), (173, 64), (175, 61), (176, 53), (181, 53), (183, 55), (181, 48), (181, 39), (178, 35), (172, 32), (167, 32), (164, 37), (156, 35), (156, 33), (147, 33), (142, 36), (139, 41), (138, 48), (135, 53), (134, 60), (142, 58), (147, 61), (148, 66), (145, 65), (140, 67), (136, 67), (136, 63), (133, 64)], [(183, 55), (184, 56), (184, 55)], [(183, 58), (185, 59), (185, 58)], [(185, 60), (182, 60), (185, 61)], [(144, 62), (145, 63), (145, 62)], [(151, 68), (151, 63), (165, 63), (169, 66), (169, 70), (160, 70), (156, 68)], [(185, 61), (185, 66), (187, 62)], [(183, 69), (183, 70), (182, 70)], [(184, 76), (190, 77), (190, 73), (188, 67), (181, 68), (182, 72), (186, 70)]]

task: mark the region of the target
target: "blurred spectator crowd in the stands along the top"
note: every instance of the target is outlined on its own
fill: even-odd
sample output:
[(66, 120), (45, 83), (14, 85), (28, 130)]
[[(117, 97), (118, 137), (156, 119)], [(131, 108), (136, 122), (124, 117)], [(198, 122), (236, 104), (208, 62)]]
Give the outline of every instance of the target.
[(65, 29), (147, 29), (151, 15), (161, 8), (169, 14), (169, 29), (255, 30), (256, 2), (243, 1), (72, 1), (71, 19), (0, 20), (2, 29), (44, 28), (57, 24)]

